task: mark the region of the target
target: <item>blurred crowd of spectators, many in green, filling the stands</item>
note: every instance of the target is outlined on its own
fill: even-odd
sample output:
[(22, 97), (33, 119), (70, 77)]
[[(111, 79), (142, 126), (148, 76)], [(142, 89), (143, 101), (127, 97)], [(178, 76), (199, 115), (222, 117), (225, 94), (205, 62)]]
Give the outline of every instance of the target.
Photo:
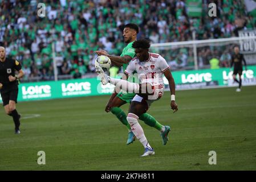
[[(217, 17), (208, 14), (208, 4), (217, 3)], [(188, 16), (185, 1), (100, 1), (48, 0), (45, 16), (38, 15), (39, 1), (0, 1), (0, 44), (7, 55), (21, 61), (24, 80), (53, 80), (52, 42), (55, 43), (58, 75), (75, 78), (94, 72), (97, 49), (120, 55), (124, 48), (123, 26), (140, 26), (138, 38), (152, 43), (180, 42), (237, 36), (238, 30), (256, 27), (256, 17), (248, 15), (242, 1), (202, 1), (202, 16)], [(192, 49), (164, 53), (173, 69), (192, 68)], [(198, 65), (220, 59), (228, 67), (230, 50), (205, 47), (198, 50)]]

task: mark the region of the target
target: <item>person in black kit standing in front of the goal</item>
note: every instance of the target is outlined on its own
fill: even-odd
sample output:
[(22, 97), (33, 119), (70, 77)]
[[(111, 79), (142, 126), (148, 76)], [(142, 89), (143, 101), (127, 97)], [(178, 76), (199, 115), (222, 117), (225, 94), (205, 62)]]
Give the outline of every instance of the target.
[[(241, 79), (242, 72), (243, 72), (242, 61), (245, 64), (245, 70), (246, 70), (245, 58), (243, 57), (242, 53), (239, 53), (239, 47), (235, 46), (234, 54), (231, 57), (230, 69), (233, 67), (233, 64), (234, 64), (233, 79), (235, 82), (238, 82), (238, 84), (239, 84), (239, 87), (237, 88), (237, 92), (241, 92), (241, 86), (242, 86), (242, 79)], [(237, 73), (239, 75), (239, 81), (236, 78)]]

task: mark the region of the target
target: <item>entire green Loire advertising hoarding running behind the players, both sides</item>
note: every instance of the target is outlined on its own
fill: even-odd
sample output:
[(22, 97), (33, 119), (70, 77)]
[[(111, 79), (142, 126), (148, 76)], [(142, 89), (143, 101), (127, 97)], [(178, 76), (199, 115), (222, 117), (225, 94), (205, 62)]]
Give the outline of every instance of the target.
[[(177, 90), (206, 88), (208, 86), (235, 86), (232, 74), (233, 72), (230, 72), (229, 68), (172, 72)], [(247, 67), (247, 71), (243, 71), (242, 79), (243, 85), (256, 85), (256, 66)], [(165, 88), (168, 89), (166, 78), (164, 84)], [(22, 83), (19, 85), (18, 101), (99, 96), (111, 94), (114, 88), (115, 86), (111, 84), (101, 85), (96, 77)], [(2, 102), (1, 97), (0, 102)]]

